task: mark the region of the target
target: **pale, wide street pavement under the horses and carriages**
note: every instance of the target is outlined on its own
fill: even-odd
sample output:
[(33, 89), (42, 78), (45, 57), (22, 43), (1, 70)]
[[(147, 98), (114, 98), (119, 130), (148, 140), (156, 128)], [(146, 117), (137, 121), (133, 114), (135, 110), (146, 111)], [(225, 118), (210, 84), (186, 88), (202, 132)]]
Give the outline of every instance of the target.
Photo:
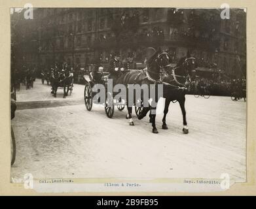
[[(125, 119), (126, 108), (115, 108), (107, 118), (102, 105), (86, 110), (84, 86), (57, 98), (50, 86), (36, 80), (33, 89), (17, 92), (16, 161), (11, 177), (23, 178), (219, 178), (228, 173), (246, 181), (246, 103), (230, 97), (204, 99), (186, 95), (189, 134), (182, 133), (178, 103), (171, 103), (162, 130), (153, 134), (149, 117), (134, 126)], [(160, 106), (164, 100), (160, 99)], [(161, 111), (158, 111), (161, 112)]]

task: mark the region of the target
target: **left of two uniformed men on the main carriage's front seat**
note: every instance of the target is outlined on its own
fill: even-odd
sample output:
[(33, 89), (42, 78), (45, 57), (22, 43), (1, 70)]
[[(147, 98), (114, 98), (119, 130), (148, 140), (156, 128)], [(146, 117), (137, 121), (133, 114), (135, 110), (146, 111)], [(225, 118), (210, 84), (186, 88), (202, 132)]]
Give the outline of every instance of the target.
[(115, 52), (113, 59), (109, 61), (109, 78), (113, 79), (113, 82), (115, 82), (120, 76), (120, 71), (124, 71), (124, 68), (120, 62), (120, 53)]

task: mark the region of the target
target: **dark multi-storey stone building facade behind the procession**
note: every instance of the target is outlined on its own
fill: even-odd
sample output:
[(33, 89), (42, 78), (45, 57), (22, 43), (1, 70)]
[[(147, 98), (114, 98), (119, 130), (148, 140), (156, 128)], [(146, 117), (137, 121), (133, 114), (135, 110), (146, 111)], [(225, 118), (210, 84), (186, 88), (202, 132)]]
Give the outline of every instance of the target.
[[(15, 28), (22, 37), (22, 61), (38, 68), (66, 61), (75, 70), (107, 66), (111, 54), (144, 61), (143, 49), (160, 47), (176, 63), (187, 55), (198, 59), (202, 70), (229, 75), (246, 72), (246, 12), (232, 8), (230, 19), (220, 9), (189, 8), (35, 8), (33, 20)], [(23, 18), (24, 19), (24, 18)], [(17, 29), (18, 27), (18, 29)], [(142, 65), (141, 65), (142, 66)]]

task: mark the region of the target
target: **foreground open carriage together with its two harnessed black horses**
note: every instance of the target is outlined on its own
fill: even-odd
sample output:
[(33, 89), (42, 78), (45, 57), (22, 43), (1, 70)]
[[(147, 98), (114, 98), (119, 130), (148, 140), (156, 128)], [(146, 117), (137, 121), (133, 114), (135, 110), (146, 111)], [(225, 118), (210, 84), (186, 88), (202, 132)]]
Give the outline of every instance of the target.
[[(129, 125), (134, 125), (134, 121), (132, 120), (132, 106), (135, 105), (136, 115), (139, 120), (144, 118), (147, 112), (150, 112), (149, 116), (153, 127), (152, 131), (153, 133), (158, 133), (155, 124), (155, 110), (156, 103), (160, 96), (158, 91), (155, 96), (151, 95), (151, 93), (154, 94), (153, 91), (156, 93), (156, 88), (160, 87), (163, 90), (162, 97), (166, 99), (162, 129), (168, 129), (166, 125), (166, 114), (168, 113), (170, 102), (177, 101), (183, 114), (183, 133), (189, 133), (185, 112), (185, 93), (187, 86), (191, 82), (191, 71), (196, 67), (195, 58), (191, 57), (188, 53), (187, 57), (181, 57), (177, 65), (173, 67), (170, 63), (170, 57), (166, 52), (162, 52), (161, 50), (156, 51), (154, 48), (147, 48), (145, 55), (147, 57), (147, 67), (145, 69), (120, 72), (120, 76), (115, 82), (124, 85), (126, 92), (129, 92), (130, 85), (138, 85), (140, 87), (147, 86), (147, 96), (144, 95), (145, 91), (141, 88), (139, 90), (141, 93), (141, 95), (139, 95), (140, 99), (135, 98), (134, 95), (130, 95), (130, 93), (127, 94), (128, 97), (121, 97), (120, 99), (120, 91), (113, 93), (107, 89), (109, 81), (108, 72), (91, 72), (90, 74), (84, 75), (84, 80), (86, 81), (84, 87), (84, 103), (86, 109), (90, 111), (92, 109), (92, 103), (96, 102), (99, 104), (98, 96), (100, 95), (101, 97), (102, 95), (100, 92), (102, 88), (101, 85), (103, 85), (103, 87), (107, 89), (107, 92), (105, 92), (105, 99), (103, 99), (103, 101), (101, 101), (100, 98), (100, 104), (105, 106), (107, 117), (113, 117), (115, 106), (117, 106), (120, 111), (127, 106), (128, 114), (126, 118), (130, 120)], [(158, 86), (158, 84), (160, 84), (160, 86)], [(99, 85), (99, 88), (97, 85)], [(153, 88), (151, 89), (151, 87)], [(98, 91), (99, 89), (100, 91)], [(149, 91), (151, 93), (149, 93)], [(126, 98), (126, 101), (122, 98)], [(151, 104), (146, 105), (143, 101), (145, 103), (151, 101)], [(154, 103), (152, 103), (152, 101), (154, 101)]]

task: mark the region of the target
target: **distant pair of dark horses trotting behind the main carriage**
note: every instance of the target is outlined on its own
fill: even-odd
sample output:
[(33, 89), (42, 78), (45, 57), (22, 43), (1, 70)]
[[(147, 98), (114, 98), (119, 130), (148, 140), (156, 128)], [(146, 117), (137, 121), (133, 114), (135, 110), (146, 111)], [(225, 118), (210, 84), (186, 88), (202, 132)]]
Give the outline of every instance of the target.
[[(52, 69), (52, 76), (50, 77), (50, 84), (52, 86), (52, 95), (56, 97), (58, 87), (63, 87), (65, 98), (69, 92), (69, 88), (72, 85), (73, 74), (69, 69), (65, 68), (60, 71), (57, 67)], [(66, 91), (67, 88), (67, 91)]]

